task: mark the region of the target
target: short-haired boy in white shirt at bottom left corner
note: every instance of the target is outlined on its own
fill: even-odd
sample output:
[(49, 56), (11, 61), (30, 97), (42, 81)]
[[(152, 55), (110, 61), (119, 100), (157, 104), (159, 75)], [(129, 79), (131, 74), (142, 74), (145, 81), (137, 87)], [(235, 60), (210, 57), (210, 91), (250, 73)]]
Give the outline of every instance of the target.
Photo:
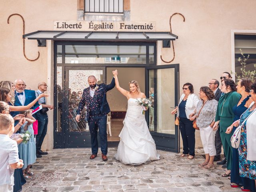
[(14, 132), (14, 120), (9, 114), (0, 115), (0, 192), (12, 192), (14, 169), (22, 168), (17, 142), (10, 139)]

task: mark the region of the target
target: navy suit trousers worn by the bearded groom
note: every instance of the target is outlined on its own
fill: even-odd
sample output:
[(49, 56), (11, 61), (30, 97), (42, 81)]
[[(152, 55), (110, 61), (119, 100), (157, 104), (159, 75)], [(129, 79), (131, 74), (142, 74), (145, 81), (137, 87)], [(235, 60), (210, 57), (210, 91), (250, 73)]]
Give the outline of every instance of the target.
[(98, 153), (98, 129), (100, 136), (100, 149), (102, 154), (108, 153), (108, 139), (107, 139), (107, 116), (106, 115), (94, 115), (90, 116), (89, 130), (91, 134), (92, 154)]

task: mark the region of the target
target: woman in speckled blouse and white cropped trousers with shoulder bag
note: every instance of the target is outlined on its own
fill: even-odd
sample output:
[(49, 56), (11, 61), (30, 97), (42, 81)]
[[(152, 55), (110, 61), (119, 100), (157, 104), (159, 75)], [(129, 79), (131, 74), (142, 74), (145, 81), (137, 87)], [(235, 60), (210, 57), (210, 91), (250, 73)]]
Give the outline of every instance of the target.
[(201, 87), (199, 91), (200, 101), (197, 104), (196, 112), (191, 121), (196, 119), (196, 125), (200, 130), (200, 137), (204, 147), (205, 161), (198, 164), (202, 170), (214, 169), (214, 156), (216, 155), (215, 134), (213, 124), (216, 116), (218, 101), (214, 99), (214, 93), (209, 87)]

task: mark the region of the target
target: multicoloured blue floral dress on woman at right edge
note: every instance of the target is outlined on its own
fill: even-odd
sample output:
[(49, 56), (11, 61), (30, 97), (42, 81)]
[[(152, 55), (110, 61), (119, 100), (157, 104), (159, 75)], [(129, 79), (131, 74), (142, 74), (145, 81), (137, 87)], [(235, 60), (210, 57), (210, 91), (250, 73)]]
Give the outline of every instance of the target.
[[(240, 124), (251, 114), (250, 109), (242, 115)], [(246, 120), (247, 121), (247, 120)], [(256, 161), (246, 160), (247, 157), (247, 140), (246, 140), (246, 122), (241, 128), (239, 153), (239, 172), (241, 177), (256, 179)]]

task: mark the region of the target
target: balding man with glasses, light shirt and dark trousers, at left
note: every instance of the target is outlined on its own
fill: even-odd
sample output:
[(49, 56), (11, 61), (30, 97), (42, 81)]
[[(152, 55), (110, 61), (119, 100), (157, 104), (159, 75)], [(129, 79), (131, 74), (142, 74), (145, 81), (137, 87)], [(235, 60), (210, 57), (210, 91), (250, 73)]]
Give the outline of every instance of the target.
[[(46, 92), (47, 84), (45, 82), (38, 83), (38, 90), (36, 91), (36, 97), (41, 93)], [(48, 115), (47, 111), (52, 110), (54, 107), (52, 105), (46, 104), (46, 98), (42, 97), (38, 100), (39, 104), (42, 105), (42, 110), (36, 113), (36, 119), (38, 120), (38, 134), (36, 135), (36, 157), (42, 157), (42, 155), (48, 154), (41, 150), (41, 146), (46, 136), (47, 126), (48, 126)]]

